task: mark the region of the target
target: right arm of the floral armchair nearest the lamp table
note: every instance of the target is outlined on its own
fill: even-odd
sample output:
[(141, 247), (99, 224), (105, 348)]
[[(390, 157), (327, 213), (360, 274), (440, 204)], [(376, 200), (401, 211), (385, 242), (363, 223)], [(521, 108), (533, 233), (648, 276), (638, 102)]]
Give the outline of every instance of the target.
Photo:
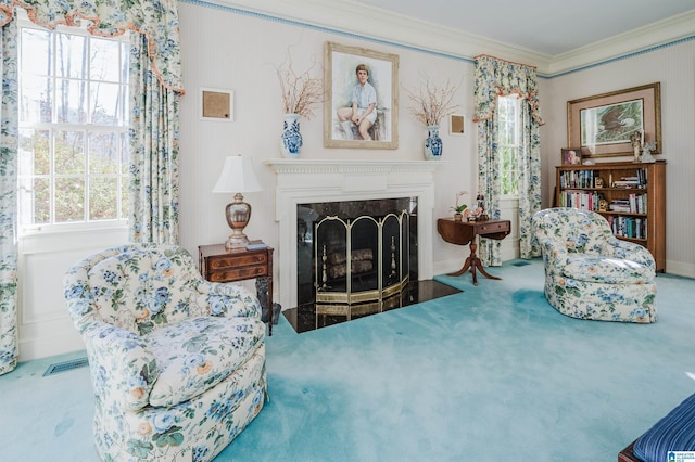
[(247, 287), (219, 282), (207, 282), (199, 286), (203, 298), (201, 305), (210, 307), (211, 316), (252, 317), (261, 319), (258, 298)]

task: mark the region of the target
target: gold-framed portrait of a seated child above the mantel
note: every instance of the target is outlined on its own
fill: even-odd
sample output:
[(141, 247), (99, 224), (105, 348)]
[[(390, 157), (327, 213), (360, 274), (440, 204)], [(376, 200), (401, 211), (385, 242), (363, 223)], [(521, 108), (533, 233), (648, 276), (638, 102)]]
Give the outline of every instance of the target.
[(399, 147), (399, 55), (326, 42), (324, 146)]

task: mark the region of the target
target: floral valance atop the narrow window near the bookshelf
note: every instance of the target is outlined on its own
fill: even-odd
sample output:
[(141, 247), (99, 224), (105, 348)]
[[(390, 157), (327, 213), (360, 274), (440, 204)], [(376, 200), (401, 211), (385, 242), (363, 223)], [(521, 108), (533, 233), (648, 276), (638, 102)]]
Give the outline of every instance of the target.
[(545, 123), (539, 112), (539, 88), (535, 67), (513, 63), (485, 54), (476, 60), (476, 90), (473, 121), (492, 117), (497, 97), (518, 94), (527, 101), (538, 125)]

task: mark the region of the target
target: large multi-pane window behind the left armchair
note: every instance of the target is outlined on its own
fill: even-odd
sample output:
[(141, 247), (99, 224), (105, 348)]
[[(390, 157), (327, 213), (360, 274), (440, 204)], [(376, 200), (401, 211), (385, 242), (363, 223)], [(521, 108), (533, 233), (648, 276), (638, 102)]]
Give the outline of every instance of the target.
[[(127, 216), (128, 41), (21, 22), (18, 222), (31, 230)], [(121, 221), (123, 223), (123, 221)]]

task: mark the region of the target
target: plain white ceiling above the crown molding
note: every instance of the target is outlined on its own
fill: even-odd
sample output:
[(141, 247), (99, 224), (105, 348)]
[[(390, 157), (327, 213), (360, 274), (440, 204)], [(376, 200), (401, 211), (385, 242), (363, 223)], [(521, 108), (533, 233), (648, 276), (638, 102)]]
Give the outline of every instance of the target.
[(695, 9), (695, 0), (356, 0), (556, 56)]

